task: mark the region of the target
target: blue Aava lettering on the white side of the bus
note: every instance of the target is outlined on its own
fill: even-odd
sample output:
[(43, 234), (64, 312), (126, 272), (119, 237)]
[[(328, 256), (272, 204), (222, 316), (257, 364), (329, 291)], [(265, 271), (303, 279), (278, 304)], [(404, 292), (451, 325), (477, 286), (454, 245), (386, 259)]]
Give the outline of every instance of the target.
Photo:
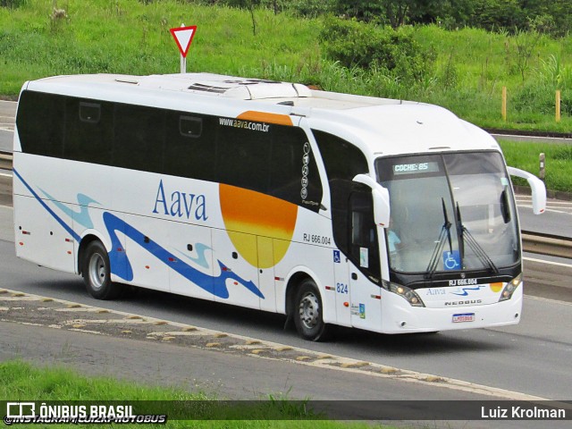
[(153, 213), (162, 213), (173, 217), (194, 218), (197, 221), (206, 221), (206, 198), (200, 194), (189, 194), (180, 190), (174, 190), (171, 198), (167, 200), (164, 193), (163, 181), (159, 181), (159, 188), (155, 198)]

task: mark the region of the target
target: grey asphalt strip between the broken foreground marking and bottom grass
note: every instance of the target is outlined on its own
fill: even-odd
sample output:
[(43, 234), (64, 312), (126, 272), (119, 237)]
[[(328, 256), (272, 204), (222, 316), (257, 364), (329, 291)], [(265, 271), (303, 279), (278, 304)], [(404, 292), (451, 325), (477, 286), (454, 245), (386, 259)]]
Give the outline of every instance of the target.
[[(71, 332), (40, 326), (0, 322), (0, 361), (24, 357), (40, 366), (71, 366), (81, 374), (114, 376), (122, 380), (174, 386), (206, 393), (220, 400), (268, 400), (273, 398), (332, 400), (338, 413), (366, 418), (366, 401), (408, 400), (412, 411), (425, 400), (448, 400), (447, 415), (455, 421), (386, 422), (391, 427), (434, 428), (535, 428), (534, 421), (467, 421), (458, 413), (458, 400), (489, 401), (499, 398), (467, 391), (410, 383), (371, 374), (356, 374), (328, 368), (297, 365), (271, 359), (184, 348), (171, 344), (149, 344), (125, 338)], [(118, 399), (119, 400), (119, 399)], [(354, 402), (348, 402), (349, 400)], [(392, 405), (390, 407), (397, 407)], [(310, 404), (310, 407), (312, 405)], [(385, 406), (388, 406), (385, 403)], [(430, 406), (429, 406), (430, 407)], [(447, 403), (445, 403), (447, 407)], [(342, 408), (342, 410), (340, 409)], [(366, 408), (366, 409), (364, 409)], [(400, 405), (400, 408), (405, 408)], [(568, 413), (570, 406), (568, 405)], [(431, 408), (430, 408), (431, 409)], [(408, 408), (400, 413), (410, 416)], [(354, 417), (355, 418), (355, 417)], [(378, 422), (376, 422), (378, 423)], [(383, 423), (383, 422), (379, 422)], [(564, 428), (566, 422), (543, 422), (543, 427)]]

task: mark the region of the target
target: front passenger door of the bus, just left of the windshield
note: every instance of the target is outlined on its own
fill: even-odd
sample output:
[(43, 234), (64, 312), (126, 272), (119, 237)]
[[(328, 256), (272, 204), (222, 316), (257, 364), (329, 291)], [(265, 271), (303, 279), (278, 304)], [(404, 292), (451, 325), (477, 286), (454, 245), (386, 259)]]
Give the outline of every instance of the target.
[(381, 271), (371, 189), (349, 196), (351, 324), (379, 331), (382, 323)]

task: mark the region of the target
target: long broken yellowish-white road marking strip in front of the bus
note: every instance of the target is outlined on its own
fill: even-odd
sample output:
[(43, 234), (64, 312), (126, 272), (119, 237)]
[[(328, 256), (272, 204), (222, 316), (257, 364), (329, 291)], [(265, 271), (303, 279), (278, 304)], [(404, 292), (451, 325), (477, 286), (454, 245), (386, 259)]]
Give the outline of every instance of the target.
[[(18, 292), (16, 290), (0, 290), (0, 302), (5, 301), (8, 305), (13, 303), (16, 304), (13, 300), (13, 298), (16, 298), (14, 295), (21, 293), (22, 292)], [(199, 347), (202, 349), (224, 349), (223, 351), (226, 353), (230, 352), (231, 350), (236, 350), (235, 353), (241, 353), (243, 356), (253, 358), (258, 357), (275, 361), (289, 362), (296, 365), (345, 371), (353, 374), (374, 376), (380, 379), (389, 378), (392, 380), (407, 383), (418, 383), (425, 386), (442, 387), (444, 389), (450, 389), (453, 391), (466, 391), (472, 394), (480, 394), (492, 398), (532, 401), (546, 400), (538, 396), (529, 395), (518, 391), (509, 391), (506, 389), (486, 386), (483, 384), (470, 383), (463, 380), (457, 380), (439, 375), (425, 374), (408, 369), (394, 368), (393, 366), (386, 366), (374, 362), (364, 362), (363, 360), (357, 360), (349, 357), (328, 355), (328, 358), (324, 358), (323, 353), (314, 350), (285, 346), (273, 341), (257, 340), (243, 335), (214, 331), (196, 326), (189, 326), (189, 324), (164, 321), (162, 319), (156, 319), (155, 317), (134, 315), (132, 313), (126, 313), (119, 310), (104, 309), (100, 307), (88, 306), (86, 304), (81, 304), (81, 307), (77, 307), (78, 304), (71, 301), (51, 298), (49, 298), (51, 301), (46, 301), (48, 298), (31, 293), (25, 293), (23, 295), (24, 296), (18, 297), (21, 298), (19, 305), (28, 305), (30, 307), (37, 306), (35, 307), (35, 310), (37, 311), (32, 311), (30, 313), (29, 308), (27, 307), (11, 307), (11, 310), (21, 308), (21, 312), (23, 312), (20, 315), (21, 320), (18, 320), (18, 313), (15, 312), (13, 313), (12, 320), (5, 320), (3, 317), (3, 321), (18, 324), (28, 324), (30, 314), (38, 314), (38, 312), (49, 313), (50, 311), (59, 310), (59, 314), (62, 315), (62, 313), (65, 313), (66, 311), (71, 312), (71, 307), (73, 307), (74, 310), (71, 312), (71, 319), (63, 317), (63, 320), (59, 320), (59, 322), (55, 324), (50, 324), (54, 321), (46, 320), (44, 316), (42, 316), (40, 320), (44, 322), (43, 325), (55, 329), (97, 333), (99, 335), (104, 334), (108, 336), (117, 336), (118, 332), (125, 332), (126, 325), (130, 325), (130, 328), (128, 328), (128, 330), (132, 332), (130, 335), (135, 335), (133, 332), (135, 332), (136, 329), (147, 330), (145, 332), (141, 331), (139, 334), (143, 335), (143, 338), (148, 340), (162, 340), (161, 343), (177, 343), (177, 341), (181, 341), (179, 342), (181, 347), (187, 346)], [(37, 304), (34, 304), (34, 302), (37, 302)], [(44, 307), (44, 303), (46, 302), (50, 302), (52, 307)], [(103, 314), (101, 312), (104, 310), (109, 314), (108, 318), (90, 318), (90, 315)], [(85, 313), (84, 315), (77, 317), (78, 312), (80, 311), (84, 311)], [(3, 316), (5, 313), (6, 312), (3, 311)], [(115, 319), (118, 315), (121, 315), (122, 318)], [(97, 322), (100, 323), (97, 324)], [(161, 324), (158, 324), (159, 322), (161, 322)], [(114, 324), (117, 326), (114, 326)], [(82, 326), (82, 329), (74, 327), (80, 325)], [(105, 326), (108, 326), (108, 328), (105, 328)], [(84, 327), (87, 329), (83, 329)], [(97, 330), (97, 328), (99, 328), (99, 330)], [(189, 331), (189, 328), (192, 328), (192, 331)], [(221, 336), (222, 334), (223, 336)], [(190, 344), (182, 342), (184, 341), (184, 338), (189, 338), (191, 336), (196, 338), (199, 337), (198, 342)], [(169, 338), (169, 341), (164, 341), (166, 338)], [(213, 347), (213, 338), (217, 338), (220, 341), (216, 343), (218, 344), (216, 347)], [(242, 344), (243, 347), (232, 348), (233, 345), (239, 343)], [(209, 345), (211, 347), (209, 347)], [(254, 346), (256, 349), (252, 350), (248, 346)], [(257, 351), (257, 353), (254, 353), (254, 351)], [(298, 357), (300, 356), (304, 356), (305, 358), (299, 359)]]

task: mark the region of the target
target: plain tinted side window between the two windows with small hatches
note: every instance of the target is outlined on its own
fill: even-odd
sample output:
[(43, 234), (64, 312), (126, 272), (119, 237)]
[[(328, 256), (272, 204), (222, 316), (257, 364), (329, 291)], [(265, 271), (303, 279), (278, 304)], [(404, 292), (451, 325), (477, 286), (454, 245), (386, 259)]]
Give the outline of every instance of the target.
[(165, 111), (115, 105), (114, 165), (146, 172), (163, 171)]

